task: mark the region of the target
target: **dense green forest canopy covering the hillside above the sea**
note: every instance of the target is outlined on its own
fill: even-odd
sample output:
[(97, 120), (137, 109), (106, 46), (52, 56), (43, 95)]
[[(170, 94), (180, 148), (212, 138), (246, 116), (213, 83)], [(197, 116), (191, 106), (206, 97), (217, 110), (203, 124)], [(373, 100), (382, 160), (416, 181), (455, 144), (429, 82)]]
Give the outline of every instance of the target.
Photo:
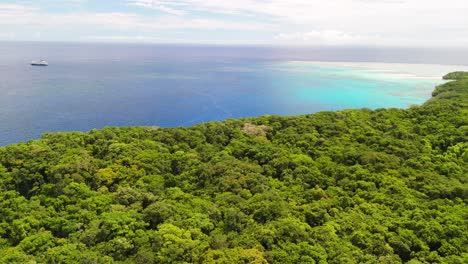
[(0, 148), (0, 263), (467, 263), (467, 76), (405, 110)]

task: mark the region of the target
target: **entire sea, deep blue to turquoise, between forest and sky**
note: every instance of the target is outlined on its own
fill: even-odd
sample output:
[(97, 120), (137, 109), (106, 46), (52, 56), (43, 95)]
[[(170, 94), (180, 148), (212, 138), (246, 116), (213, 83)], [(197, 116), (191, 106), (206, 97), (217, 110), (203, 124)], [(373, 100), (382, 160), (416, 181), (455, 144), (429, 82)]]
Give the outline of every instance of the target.
[[(41, 58), (50, 66), (29, 65)], [(427, 69), (314, 61), (460, 65), (468, 52), (0, 43), (0, 146), (50, 131), (405, 108), (442, 83)]]

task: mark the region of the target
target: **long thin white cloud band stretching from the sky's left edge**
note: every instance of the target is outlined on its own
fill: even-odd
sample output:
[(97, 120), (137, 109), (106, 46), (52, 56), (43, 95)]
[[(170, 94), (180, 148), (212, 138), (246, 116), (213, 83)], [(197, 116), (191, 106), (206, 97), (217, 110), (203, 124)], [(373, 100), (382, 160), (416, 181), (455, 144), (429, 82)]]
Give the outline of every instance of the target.
[(267, 30), (261, 23), (236, 22), (209, 18), (180, 18), (179, 16), (148, 17), (133, 13), (76, 12), (47, 14), (37, 8), (0, 5), (0, 25), (31, 26), (43, 28), (88, 27), (92, 29), (116, 29), (129, 31), (157, 31), (168, 29), (192, 30)]

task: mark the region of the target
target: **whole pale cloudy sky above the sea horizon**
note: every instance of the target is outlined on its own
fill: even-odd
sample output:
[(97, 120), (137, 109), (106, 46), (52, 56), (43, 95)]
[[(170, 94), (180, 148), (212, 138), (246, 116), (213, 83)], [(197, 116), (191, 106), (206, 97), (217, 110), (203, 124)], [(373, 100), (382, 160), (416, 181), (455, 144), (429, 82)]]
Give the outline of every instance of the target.
[(0, 40), (468, 46), (467, 0), (0, 0)]

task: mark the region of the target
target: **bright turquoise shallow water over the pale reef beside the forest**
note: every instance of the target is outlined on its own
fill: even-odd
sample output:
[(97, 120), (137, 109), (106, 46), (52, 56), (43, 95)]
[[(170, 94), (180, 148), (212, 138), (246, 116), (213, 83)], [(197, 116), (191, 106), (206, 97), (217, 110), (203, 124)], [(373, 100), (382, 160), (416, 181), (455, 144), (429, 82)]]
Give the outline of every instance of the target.
[[(324, 109), (343, 108), (406, 108), (425, 102), (439, 78), (400, 76), (398, 72), (373, 71), (353, 67), (320, 66), (316, 63), (278, 64), (278, 89), (287, 87), (284, 98), (298, 105), (320, 104)], [(391, 65), (389, 65), (391, 68)]]

